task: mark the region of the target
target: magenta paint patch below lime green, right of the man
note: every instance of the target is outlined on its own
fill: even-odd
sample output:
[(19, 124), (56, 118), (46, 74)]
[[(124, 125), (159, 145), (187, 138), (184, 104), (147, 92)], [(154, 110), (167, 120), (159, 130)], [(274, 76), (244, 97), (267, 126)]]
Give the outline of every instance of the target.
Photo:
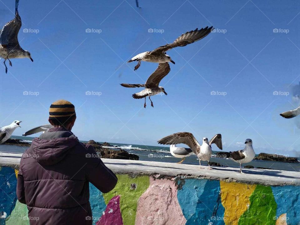
[(120, 211), (120, 195), (109, 200), (103, 216), (96, 225), (123, 225)]

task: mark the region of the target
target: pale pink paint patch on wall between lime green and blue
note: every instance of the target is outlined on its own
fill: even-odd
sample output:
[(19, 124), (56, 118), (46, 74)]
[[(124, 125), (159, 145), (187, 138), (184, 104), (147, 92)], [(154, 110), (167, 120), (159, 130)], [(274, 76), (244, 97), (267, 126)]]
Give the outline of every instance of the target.
[(138, 200), (136, 225), (185, 224), (175, 182), (150, 177), (150, 186)]

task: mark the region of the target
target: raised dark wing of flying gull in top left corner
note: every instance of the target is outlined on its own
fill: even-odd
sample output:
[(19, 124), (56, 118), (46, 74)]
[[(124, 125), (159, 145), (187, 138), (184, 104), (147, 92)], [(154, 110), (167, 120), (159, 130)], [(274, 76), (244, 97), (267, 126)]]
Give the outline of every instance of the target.
[(18, 42), (18, 32), (22, 26), (21, 17), (18, 12), (19, 0), (16, 0), (16, 14), (15, 18), (8, 23), (6, 23), (0, 34), (0, 45), (2, 47), (17, 47)]

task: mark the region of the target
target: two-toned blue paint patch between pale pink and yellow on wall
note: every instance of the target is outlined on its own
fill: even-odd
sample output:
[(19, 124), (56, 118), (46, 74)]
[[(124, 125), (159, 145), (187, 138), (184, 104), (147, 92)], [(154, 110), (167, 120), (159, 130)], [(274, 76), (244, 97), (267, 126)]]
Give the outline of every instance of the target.
[(186, 218), (186, 225), (225, 225), (221, 203), (220, 182), (208, 179), (184, 179), (177, 192), (178, 202)]

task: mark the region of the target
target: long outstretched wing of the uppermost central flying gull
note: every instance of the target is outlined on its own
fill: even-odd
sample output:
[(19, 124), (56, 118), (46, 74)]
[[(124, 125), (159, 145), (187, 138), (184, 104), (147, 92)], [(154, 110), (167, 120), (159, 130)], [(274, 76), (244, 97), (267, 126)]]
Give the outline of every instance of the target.
[(194, 43), (201, 40), (203, 37), (206, 37), (212, 30), (212, 27), (207, 26), (205, 28), (201, 28), (200, 30), (198, 30), (197, 28), (196, 30), (188, 31), (178, 37), (173, 43), (160, 46), (154, 49), (150, 54), (166, 52), (174, 47), (183, 47), (188, 44)]

